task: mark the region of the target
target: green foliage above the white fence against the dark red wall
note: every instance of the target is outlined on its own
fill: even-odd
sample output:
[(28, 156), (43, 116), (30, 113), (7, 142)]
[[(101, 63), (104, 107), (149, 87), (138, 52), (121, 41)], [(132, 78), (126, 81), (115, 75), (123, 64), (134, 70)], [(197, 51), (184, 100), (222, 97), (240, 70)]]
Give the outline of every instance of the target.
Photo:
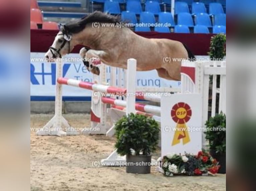
[(226, 35), (217, 34), (211, 38), (210, 52), (211, 59), (223, 59), (226, 56)]

